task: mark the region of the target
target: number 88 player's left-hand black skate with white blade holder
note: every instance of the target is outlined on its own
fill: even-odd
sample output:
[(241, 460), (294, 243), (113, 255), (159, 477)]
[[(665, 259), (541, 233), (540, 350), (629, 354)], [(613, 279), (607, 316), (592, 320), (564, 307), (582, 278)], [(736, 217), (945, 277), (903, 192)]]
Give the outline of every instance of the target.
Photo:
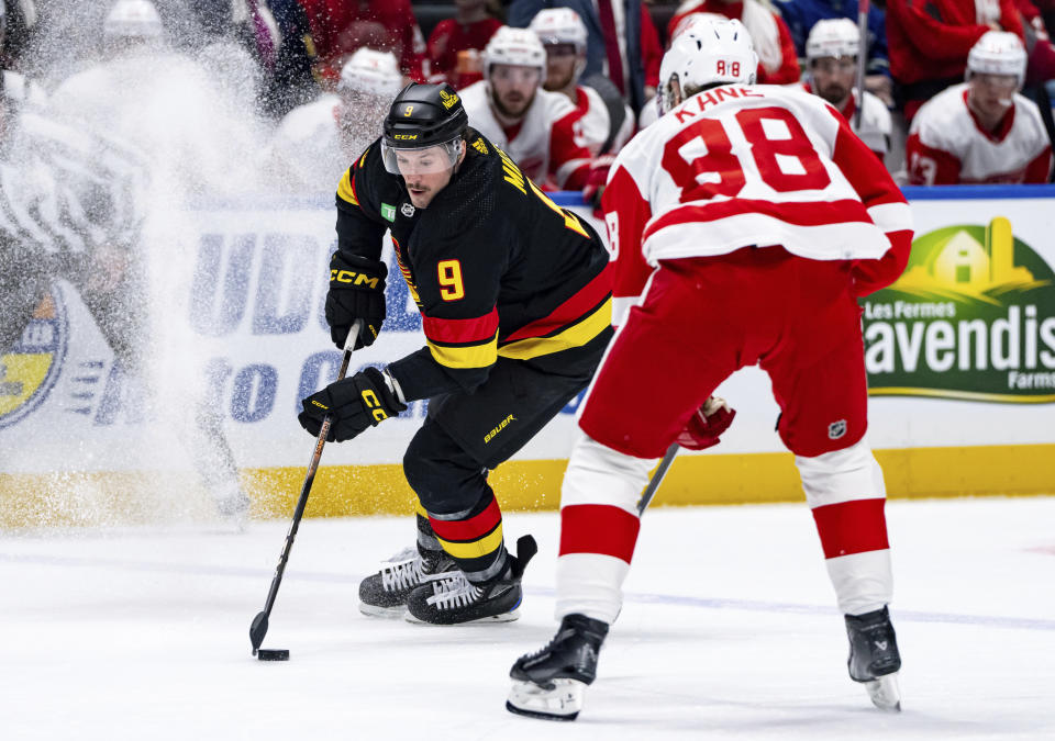
[(506, 709), (545, 720), (575, 720), (582, 692), (597, 677), (597, 654), (608, 624), (566, 615), (546, 648), (521, 656), (509, 671), (513, 686)]

